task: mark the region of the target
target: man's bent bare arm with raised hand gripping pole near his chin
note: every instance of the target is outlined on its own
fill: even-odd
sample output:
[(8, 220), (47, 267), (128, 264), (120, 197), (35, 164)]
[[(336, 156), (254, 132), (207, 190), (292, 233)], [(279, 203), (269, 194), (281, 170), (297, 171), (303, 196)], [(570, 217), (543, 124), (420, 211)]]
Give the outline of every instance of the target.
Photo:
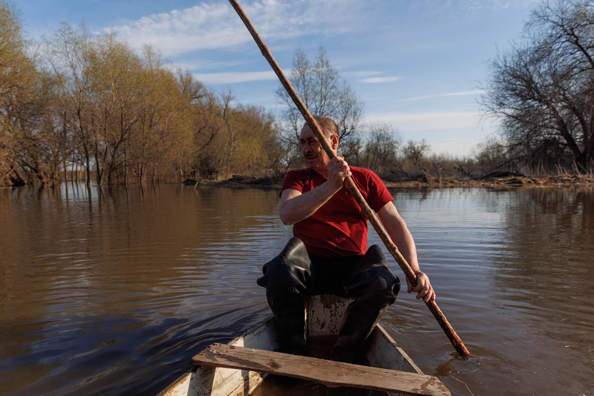
[(311, 191), (301, 194), (296, 189), (287, 188), (282, 192), (279, 217), (283, 224), (290, 226), (314, 214), (342, 188), (346, 176), (351, 175), (349, 165), (343, 157), (334, 157), (326, 168), (328, 179)]

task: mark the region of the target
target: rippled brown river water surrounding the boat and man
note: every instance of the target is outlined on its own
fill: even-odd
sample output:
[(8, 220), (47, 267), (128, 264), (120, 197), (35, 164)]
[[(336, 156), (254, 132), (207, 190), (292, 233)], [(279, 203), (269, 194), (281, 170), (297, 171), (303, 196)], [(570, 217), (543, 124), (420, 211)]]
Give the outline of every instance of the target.
[[(417, 365), (454, 395), (593, 395), (594, 190), (391, 192), (476, 355), (405, 289), (384, 328)], [(255, 280), (292, 236), (278, 204), (275, 189), (0, 189), (0, 394), (156, 394), (266, 319)]]

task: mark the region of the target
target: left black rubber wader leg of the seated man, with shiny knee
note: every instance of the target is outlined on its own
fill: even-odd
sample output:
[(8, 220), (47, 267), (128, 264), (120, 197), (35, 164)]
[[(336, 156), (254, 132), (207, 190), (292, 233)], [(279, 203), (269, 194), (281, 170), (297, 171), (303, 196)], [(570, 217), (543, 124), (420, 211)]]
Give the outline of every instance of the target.
[(311, 262), (301, 239), (291, 238), (282, 252), (264, 264), (257, 283), (266, 287), (274, 314), (280, 352), (309, 356), (305, 341), (305, 297), (311, 284)]

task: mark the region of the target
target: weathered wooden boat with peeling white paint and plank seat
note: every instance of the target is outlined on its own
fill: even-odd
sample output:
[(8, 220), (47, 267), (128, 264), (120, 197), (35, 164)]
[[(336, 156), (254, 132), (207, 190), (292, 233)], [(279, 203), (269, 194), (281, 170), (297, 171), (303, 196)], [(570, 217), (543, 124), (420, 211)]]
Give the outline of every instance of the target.
[[(336, 335), (348, 303), (347, 299), (329, 294), (308, 299), (305, 309), (306, 338), (313, 340)], [(173, 381), (158, 396), (254, 395), (267, 378), (266, 371), (283, 374), (283, 369), (284, 375), (321, 382), (330, 387), (375, 389), (388, 395), (450, 395), (439, 379), (422, 373), (381, 324), (376, 325), (368, 338), (366, 351), (372, 368), (268, 352), (278, 347), (274, 319), (270, 318), (230, 343), (213, 344), (195, 356), (192, 361), (195, 364), (194, 360), (199, 360), (201, 365)], [(237, 353), (243, 353), (243, 357), (234, 360), (230, 355)], [(303, 366), (309, 370), (304, 371)], [(366, 376), (368, 381), (365, 381)], [(399, 382), (396, 388), (391, 387), (393, 382)]]

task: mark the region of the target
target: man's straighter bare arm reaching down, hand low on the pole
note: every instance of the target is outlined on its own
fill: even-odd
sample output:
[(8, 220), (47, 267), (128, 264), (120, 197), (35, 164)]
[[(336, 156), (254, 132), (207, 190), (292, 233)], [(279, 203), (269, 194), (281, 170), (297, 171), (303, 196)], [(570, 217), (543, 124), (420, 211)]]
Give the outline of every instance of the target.
[(427, 302), (430, 299), (435, 300), (435, 292), (429, 277), (425, 275), (419, 268), (419, 261), (416, 256), (415, 240), (413, 239), (410, 231), (406, 227), (405, 221), (400, 217), (400, 214), (396, 210), (396, 207), (392, 202), (388, 202), (378, 211), (381, 223), (390, 235), (393, 242), (396, 244), (400, 254), (405, 258), (406, 262), (410, 265), (413, 272), (417, 276), (417, 285), (413, 289), (408, 278), (406, 283), (408, 285), (408, 292), (418, 292), (416, 298), (422, 298), (423, 301)]

